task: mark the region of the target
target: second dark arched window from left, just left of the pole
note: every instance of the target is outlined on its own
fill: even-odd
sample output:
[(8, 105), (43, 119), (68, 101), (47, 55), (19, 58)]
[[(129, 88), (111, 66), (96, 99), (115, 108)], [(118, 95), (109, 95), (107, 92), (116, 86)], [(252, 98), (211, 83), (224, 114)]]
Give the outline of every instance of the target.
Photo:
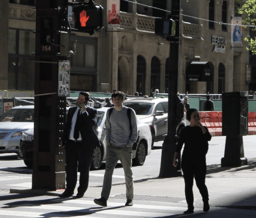
[(151, 82), (150, 92), (160, 88), (160, 60), (157, 57), (151, 59)]

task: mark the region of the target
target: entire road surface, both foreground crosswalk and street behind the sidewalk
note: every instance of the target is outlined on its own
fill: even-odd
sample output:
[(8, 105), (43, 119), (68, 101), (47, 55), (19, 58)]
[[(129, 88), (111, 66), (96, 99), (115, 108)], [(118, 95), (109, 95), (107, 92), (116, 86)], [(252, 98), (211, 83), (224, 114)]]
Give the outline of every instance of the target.
[[(244, 153), (256, 157), (256, 135), (244, 137)], [(154, 178), (159, 175), (162, 142), (156, 142), (152, 153), (147, 156), (144, 166), (133, 167), (134, 180)], [(225, 137), (213, 137), (207, 154), (208, 166), (219, 166), (225, 151)], [(104, 164), (99, 171), (90, 172), (90, 186), (102, 185)], [(157, 201), (136, 201), (133, 207), (124, 207), (125, 200), (110, 199), (108, 207), (94, 204), (91, 198), (60, 199), (53, 196), (32, 194), (10, 194), (10, 188), (31, 187), (32, 170), (28, 169), (16, 154), (0, 154), (0, 217), (85, 217), (85, 218), (141, 218), (141, 217), (200, 217), (200, 218), (254, 218), (254, 210), (211, 207), (209, 213), (202, 212), (202, 205), (195, 204), (195, 213), (184, 215), (186, 204)], [(124, 182), (123, 168), (118, 164), (114, 171), (113, 183)], [(99, 194), (100, 196), (100, 194)]]

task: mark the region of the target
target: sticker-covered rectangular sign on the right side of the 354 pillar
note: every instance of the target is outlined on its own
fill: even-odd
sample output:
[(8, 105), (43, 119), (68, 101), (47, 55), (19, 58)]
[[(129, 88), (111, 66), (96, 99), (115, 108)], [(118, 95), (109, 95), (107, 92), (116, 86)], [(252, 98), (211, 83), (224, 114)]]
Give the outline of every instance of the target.
[(58, 96), (69, 96), (70, 91), (70, 62), (59, 61), (58, 65)]

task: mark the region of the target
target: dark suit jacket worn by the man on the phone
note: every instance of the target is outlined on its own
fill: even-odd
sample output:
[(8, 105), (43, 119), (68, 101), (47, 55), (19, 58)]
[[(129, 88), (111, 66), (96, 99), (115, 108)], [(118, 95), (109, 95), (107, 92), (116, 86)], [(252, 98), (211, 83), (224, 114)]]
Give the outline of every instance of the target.
[[(75, 111), (77, 109), (77, 106), (71, 107), (68, 110), (68, 117), (67, 117), (67, 123), (65, 125), (65, 129), (63, 132), (63, 145), (66, 145), (67, 140), (69, 139), (70, 130), (71, 130), (71, 123), (73, 115), (75, 114)], [(94, 126), (97, 122), (98, 112), (96, 109), (87, 106), (87, 111), (81, 114), (79, 119), (79, 130), (82, 137), (82, 144), (86, 147), (99, 147), (101, 146), (98, 136), (94, 131)]]

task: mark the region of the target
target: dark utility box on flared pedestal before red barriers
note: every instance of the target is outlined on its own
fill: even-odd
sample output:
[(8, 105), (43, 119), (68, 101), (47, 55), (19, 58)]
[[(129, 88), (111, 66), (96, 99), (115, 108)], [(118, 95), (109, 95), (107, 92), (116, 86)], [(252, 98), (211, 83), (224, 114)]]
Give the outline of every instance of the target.
[(222, 93), (222, 135), (226, 136), (222, 167), (247, 164), (243, 135), (248, 135), (248, 92)]

